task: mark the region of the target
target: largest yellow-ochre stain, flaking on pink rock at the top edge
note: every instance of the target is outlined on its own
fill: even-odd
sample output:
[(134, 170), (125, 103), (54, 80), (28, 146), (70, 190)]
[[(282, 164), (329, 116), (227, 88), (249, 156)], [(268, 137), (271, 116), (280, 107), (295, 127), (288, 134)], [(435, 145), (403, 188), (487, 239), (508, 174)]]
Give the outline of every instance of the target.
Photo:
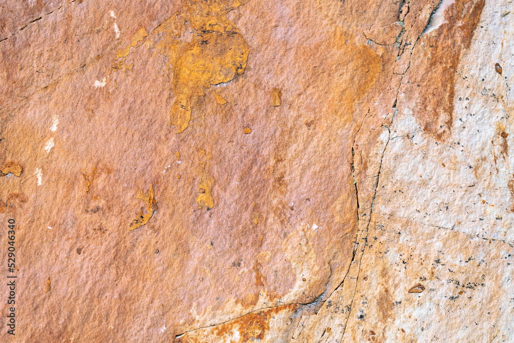
[[(154, 30), (157, 37), (152, 41), (157, 42), (162, 55), (169, 57), (173, 72), (171, 88), (176, 99), (170, 125), (175, 125), (177, 134), (188, 127), (196, 101), (205, 96), (204, 88), (244, 73), (249, 49), (226, 14), (247, 1), (190, 0)], [(191, 33), (189, 39), (181, 37), (183, 31)]]

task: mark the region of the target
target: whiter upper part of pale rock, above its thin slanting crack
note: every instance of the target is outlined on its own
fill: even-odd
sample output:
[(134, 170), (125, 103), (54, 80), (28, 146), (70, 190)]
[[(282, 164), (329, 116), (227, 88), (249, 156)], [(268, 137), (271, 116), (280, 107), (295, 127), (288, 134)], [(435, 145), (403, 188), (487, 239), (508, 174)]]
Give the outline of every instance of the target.
[[(508, 82), (514, 26), (487, 4), (481, 17), (487, 24), (479, 23), (457, 69), (450, 138), (436, 141), (421, 130), (416, 113), (398, 113), (374, 213), (514, 244), (514, 92)], [(505, 33), (493, 42), (491, 32)], [(497, 62), (502, 75), (494, 70)]]

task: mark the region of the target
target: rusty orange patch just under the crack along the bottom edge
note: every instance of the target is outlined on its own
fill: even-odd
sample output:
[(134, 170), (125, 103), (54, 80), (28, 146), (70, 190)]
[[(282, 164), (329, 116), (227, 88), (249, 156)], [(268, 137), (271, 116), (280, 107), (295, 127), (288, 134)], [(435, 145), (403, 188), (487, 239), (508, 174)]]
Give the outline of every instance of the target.
[(234, 332), (239, 333), (240, 342), (246, 342), (250, 339), (259, 341), (264, 339), (266, 332), (269, 330), (269, 320), (281, 311), (295, 311), (298, 309), (297, 304), (289, 304), (278, 306), (276, 308), (249, 313), (241, 318), (221, 324), (213, 329), (213, 334), (218, 337), (234, 336)]

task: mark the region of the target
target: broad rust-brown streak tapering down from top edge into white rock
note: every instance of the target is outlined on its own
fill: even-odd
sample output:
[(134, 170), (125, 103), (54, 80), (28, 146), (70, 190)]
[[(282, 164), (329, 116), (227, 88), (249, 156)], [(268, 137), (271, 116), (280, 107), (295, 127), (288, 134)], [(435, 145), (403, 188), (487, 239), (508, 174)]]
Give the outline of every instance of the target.
[(406, 99), (411, 99), (412, 112), (423, 130), (437, 140), (450, 134), (455, 72), (483, 7), (484, 0), (457, 0), (445, 10), (444, 23), (417, 42), (420, 52), (411, 62), (416, 76), (410, 79)]

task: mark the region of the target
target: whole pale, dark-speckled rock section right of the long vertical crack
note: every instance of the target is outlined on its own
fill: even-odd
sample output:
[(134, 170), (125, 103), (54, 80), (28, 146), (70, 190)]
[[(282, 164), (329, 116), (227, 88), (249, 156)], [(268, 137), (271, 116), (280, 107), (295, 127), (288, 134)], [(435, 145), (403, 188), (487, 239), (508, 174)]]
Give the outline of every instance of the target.
[(348, 321), (324, 341), (514, 341), (514, 25), (502, 6), (485, 2), (457, 68), (448, 138), (395, 115)]

